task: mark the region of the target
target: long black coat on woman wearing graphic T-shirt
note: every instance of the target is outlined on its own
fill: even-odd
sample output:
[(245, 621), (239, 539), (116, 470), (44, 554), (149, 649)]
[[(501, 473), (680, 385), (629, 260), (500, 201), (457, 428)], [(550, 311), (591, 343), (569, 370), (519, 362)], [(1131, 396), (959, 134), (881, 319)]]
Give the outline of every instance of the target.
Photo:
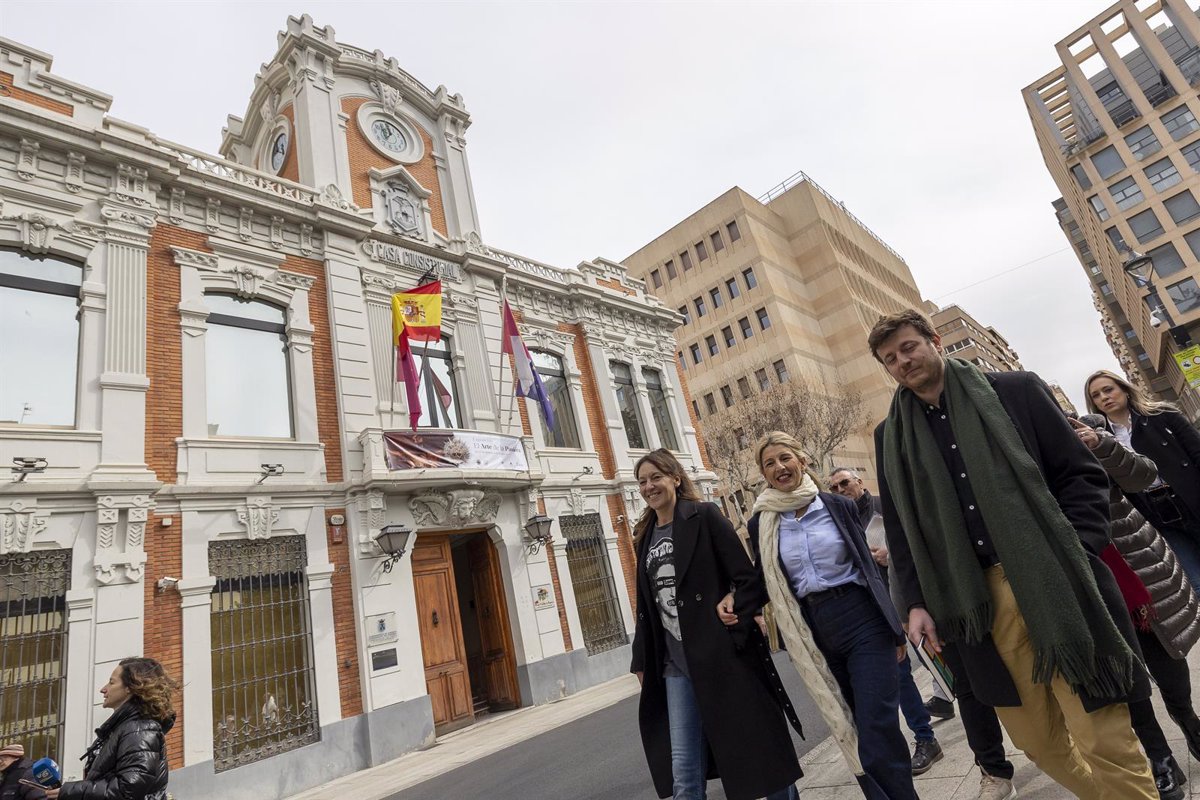
[[(688, 673), (708, 739), (708, 777), (721, 778), (730, 800), (766, 796), (804, 774), (787, 732), (788, 720), (798, 732), (800, 723), (754, 622), (767, 602), (766, 587), (733, 525), (712, 503), (680, 500), (672, 535), (676, 606)], [(650, 539), (647, 534), (637, 547), (637, 627), (630, 672), (643, 673), (638, 706), (642, 746), (654, 789), (667, 798), (672, 781), (662, 676), (666, 645), (646, 572)], [(731, 589), (739, 621), (726, 628), (716, 604)]]

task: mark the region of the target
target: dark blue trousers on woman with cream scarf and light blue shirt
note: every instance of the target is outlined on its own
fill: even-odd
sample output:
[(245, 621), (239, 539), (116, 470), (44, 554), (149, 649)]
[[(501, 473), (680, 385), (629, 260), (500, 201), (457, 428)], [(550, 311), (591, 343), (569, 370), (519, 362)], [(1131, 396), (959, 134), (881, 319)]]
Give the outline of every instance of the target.
[(806, 597), (800, 608), (854, 714), (863, 794), (869, 800), (917, 800), (908, 744), (900, 730), (895, 637), (883, 613), (858, 584)]

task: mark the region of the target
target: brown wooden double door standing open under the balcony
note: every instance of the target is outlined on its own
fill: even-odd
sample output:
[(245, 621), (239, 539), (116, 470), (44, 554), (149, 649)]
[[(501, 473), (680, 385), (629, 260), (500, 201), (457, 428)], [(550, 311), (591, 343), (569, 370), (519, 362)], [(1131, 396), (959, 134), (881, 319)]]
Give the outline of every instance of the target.
[(434, 730), (470, 724), (476, 706), (520, 705), (499, 554), (487, 534), (419, 535), (413, 583)]

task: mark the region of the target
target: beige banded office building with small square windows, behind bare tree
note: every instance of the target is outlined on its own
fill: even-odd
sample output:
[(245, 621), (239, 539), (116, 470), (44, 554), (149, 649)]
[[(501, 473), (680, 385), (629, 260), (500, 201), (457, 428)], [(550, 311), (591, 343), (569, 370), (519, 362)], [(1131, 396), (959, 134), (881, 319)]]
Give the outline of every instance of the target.
[(868, 423), (834, 458), (874, 480), (871, 431), (895, 384), (866, 335), (922, 299), (905, 260), (838, 199), (803, 173), (758, 199), (734, 187), (624, 263), (685, 320), (677, 355), (701, 420), (796, 375), (846, 384)]

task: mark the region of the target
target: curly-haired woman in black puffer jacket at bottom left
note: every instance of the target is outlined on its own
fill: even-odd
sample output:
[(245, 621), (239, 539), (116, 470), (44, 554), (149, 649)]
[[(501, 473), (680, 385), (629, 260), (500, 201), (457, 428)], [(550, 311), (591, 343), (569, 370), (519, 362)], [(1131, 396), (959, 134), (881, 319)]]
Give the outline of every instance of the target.
[(96, 729), (84, 756), (84, 780), (47, 790), (48, 800), (163, 800), (166, 734), (175, 723), (170, 694), (176, 688), (154, 658), (121, 661), (100, 690), (113, 716)]

